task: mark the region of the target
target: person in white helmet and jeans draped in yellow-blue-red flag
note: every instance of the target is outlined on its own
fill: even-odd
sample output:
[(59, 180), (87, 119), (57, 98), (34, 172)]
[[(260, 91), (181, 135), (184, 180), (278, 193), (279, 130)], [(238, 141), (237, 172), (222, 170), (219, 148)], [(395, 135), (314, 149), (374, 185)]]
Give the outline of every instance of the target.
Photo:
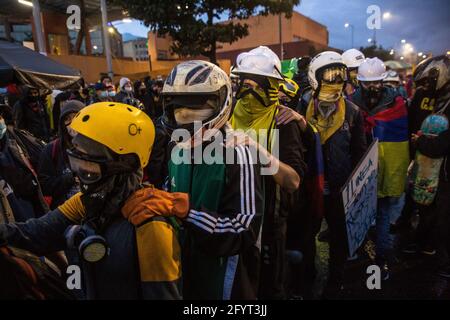
[(380, 59), (366, 59), (358, 68), (360, 87), (352, 99), (363, 110), (368, 142), (378, 139), (376, 263), (383, 280), (389, 279), (389, 263), (394, 258), (390, 225), (404, 205), (409, 165), (408, 110), (398, 91), (383, 86), (385, 77), (386, 67)]

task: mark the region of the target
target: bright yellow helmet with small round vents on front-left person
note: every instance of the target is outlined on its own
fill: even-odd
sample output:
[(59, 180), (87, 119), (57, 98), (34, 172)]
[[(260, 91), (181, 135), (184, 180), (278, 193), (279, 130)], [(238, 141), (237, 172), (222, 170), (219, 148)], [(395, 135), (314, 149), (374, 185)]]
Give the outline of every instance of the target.
[(134, 153), (145, 167), (155, 141), (155, 126), (143, 111), (117, 102), (98, 102), (82, 109), (70, 127), (117, 154)]

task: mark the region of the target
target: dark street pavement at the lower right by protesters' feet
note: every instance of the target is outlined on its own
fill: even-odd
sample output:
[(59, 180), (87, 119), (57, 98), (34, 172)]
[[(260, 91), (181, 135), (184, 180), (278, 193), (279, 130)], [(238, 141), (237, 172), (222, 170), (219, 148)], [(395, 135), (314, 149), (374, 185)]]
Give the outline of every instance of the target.
[[(324, 229), (324, 227), (322, 228)], [(402, 234), (396, 236), (396, 243)], [(358, 258), (346, 266), (344, 290), (339, 300), (450, 300), (450, 281), (434, 274), (435, 256), (404, 254), (397, 248), (395, 262), (390, 266), (390, 278), (381, 282), (381, 289), (369, 290), (367, 267), (373, 265), (375, 246), (368, 240), (358, 251)], [(314, 298), (322, 297), (328, 273), (328, 243), (317, 241), (316, 267), (318, 275), (314, 285)], [(437, 297), (439, 294), (439, 297)]]

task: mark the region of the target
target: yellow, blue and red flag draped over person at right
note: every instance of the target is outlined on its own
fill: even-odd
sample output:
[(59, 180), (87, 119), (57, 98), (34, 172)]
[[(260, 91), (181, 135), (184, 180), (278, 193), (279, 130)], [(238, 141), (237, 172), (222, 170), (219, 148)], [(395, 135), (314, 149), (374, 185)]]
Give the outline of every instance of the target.
[(378, 138), (378, 197), (399, 197), (404, 192), (409, 165), (408, 111), (404, 99), (366, 116), (366, 129)]

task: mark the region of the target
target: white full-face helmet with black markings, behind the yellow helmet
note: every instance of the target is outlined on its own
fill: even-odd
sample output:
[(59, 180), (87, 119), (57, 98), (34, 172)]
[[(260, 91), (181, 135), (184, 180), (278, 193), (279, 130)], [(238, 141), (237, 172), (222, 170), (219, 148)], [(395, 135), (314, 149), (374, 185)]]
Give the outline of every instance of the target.
[(222, 69), (207, 61), (191, 60), (175, 66), (161, 95), (164, 107), (162, 124), (169, 132), (183, 127), (191, 135), (196, 133), (193, 132), (193, 123), (177, 123), (174, 112), (177, 109), (202, 112), (211, 108), (210, 115), (201, 119), (202, 128), (206, 129), (222, 128), (231, 112), (231, 81)]

